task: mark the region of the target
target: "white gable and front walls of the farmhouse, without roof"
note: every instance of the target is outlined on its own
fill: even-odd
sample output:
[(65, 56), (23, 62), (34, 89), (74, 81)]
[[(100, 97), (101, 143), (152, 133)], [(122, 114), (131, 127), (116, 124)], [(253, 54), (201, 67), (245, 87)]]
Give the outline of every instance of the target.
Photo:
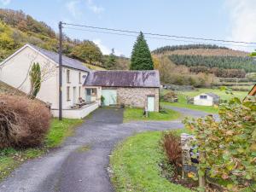
[[(59, 69), (54, 61), (48, 57), (41, 55), (37, 50), (26, 46), (17, 52), (14, 56), (10, 56), (7, 60), (0, 64), (0, 80), (6, 84), (15, 87), (26, 94), (29, 93), (31, 84), (29, 79), (29, 71), (33, 62), (38, 62), (43, 68), (50, 68), (49, 77), (41, 84), (37, 98), (43, 102), (49, 102), (51, 108), (59, 108)], [(69, 70), (69, 82), (67, 82), (67, 70)], [(83, 88), (84, 78), (87, 72), (73, 69), (70, 67), (62, 67), (62, 108), (67, 109), (79, 101), (79, 97), (85, 98), (85, 90)], [(69, 99), (67, 98), (67, 87), (69, 87)], [(74, 97), (75, 96), (75, 97)]]

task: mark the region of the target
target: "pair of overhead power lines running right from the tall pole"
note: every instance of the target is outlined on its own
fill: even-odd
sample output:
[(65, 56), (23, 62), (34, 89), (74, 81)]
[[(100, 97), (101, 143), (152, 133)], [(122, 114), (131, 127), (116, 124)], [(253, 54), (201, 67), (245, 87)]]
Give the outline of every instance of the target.
[[(103, 31), (96, 31), (96, 30), (90, 30), (90, 29), (73, 28), (73, 27), (63, 27), (63, 28), (65, 28), (65, 29), (77, 30), (77, 31), (83, 31), (83, 32), (99, 32), (99, 33), (112, 34), (112, 35), (119, 35), (119, 36), (126, 36), (126, 37), (137, 37), (136, 35), (125, 34), (125, 33), (118, 33), (118, 32), (103, 32)], [(185, 42), (185, 43), (193, 43), (193, 44), (210, 44), (210, 43), (208, 43), (208, 42), (188, 41), (188, 40), (173, 39), (173, 38), (156, 38), (156, 37), (148, 37), (148, 36), (145, 36), (145, 38), (161, 39), (161, 40), (176, 41), (176, 42)], [(236, 46), (236, 47), (252, 47), (252, 48), (255, 48), (255, 46), (241, 45), (241, 44), (219, 44), (219, 43), (218, 43), (218, 45), (223, 45), (223, 46)]]

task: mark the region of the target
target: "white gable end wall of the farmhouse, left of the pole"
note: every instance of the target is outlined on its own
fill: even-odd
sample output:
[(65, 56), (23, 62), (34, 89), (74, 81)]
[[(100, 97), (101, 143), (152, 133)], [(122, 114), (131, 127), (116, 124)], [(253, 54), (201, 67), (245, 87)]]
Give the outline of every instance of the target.
[(37, 98), (43, 102), (49, 102), (55, 107), (58, 103), (55, 63), (30, 47), (22, 49), (17, 55), (10, 57), (0, 66), (0, 80), (26, 94), (29, 93), (31, 89), (29, 72), (33, 62), (38, 62), (41, 69), (48, 68), (51, 72), (49, 77), (42, 82)]

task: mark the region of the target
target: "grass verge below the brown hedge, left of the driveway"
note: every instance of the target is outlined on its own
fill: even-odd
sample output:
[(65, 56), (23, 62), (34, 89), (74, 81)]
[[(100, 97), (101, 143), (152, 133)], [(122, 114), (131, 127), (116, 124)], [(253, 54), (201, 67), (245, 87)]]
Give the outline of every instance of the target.
[(5, 148), (0, 150), (0, 180), (7, 177), (15, 167), (20, 166), (25, 160), (36, 158), (45, 154), (50, 148), (59, 146), (66, 137), (71, 136), (74, 127), (83, 122), (82, 119), (52, 119), (49, 133), (45, 138), (42, 148), (15, 149)]

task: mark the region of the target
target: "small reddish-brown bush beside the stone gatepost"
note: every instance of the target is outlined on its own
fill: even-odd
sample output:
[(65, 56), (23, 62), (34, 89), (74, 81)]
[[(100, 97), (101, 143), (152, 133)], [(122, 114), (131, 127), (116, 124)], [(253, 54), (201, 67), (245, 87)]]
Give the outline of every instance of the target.
[(172, 132), (165, 132), (161, 138), (160, 145), (166, 153), (168, 161), (176, 167), (182, 166), (182, 148), (180, 137)]

